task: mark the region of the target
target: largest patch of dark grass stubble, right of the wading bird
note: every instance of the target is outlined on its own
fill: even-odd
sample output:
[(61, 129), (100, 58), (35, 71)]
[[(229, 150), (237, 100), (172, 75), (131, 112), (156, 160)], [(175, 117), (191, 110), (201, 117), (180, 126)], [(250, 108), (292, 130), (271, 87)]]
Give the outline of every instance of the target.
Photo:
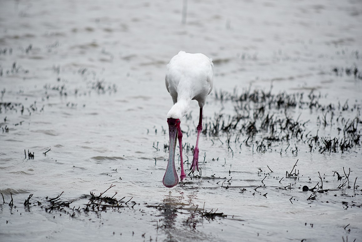
[[(276, 150), (273, 144), (284, 142), (289, 144), (294, 155), (298, 153), (297, 145), (307, 145), (310, 152), (319, 153), (343, 153), (361, 145), (361, 125), (358, 124), (362, 124), (362, 104), (356, 103), (350, 107), (348, 100), (344, 105), (323, 104), (320, 93), (272, 94), (271, 88), (268, 92), (248, 88), (241, 94), (236, 89), (232, 93), (216, 91), (215, 98), (224, 105), (233, 104), (233, 113), (215, 113), (211, 121), (203, 125), (202, 133), (218, 139), (226, 134), (226, 144), (231, 151), (232, 141), (239, 147), (242, 144), (255, 145), (257, 152)], [(299, 112), (299, 116), (295, 118), (296, 112)], [(302, 120), (300, 116), (306, 112), (302, 117), (316, 116), (316, 120)], [(357, 113), (354, 118), (346, 118), (353, 112)], [(309, 123), (317, 125), (316, 133), (308, 126)], [(334, 126), (338, 134), (334, 137), (318, 135), (318, 131), (323, 131), (327, 126)]]

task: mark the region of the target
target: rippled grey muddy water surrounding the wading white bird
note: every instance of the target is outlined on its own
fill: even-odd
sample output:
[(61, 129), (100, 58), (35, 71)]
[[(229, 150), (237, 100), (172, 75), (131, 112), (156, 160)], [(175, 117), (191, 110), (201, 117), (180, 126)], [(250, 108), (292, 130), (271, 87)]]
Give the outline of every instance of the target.
[[(309, 120), (309, 137), (341, 139), (346, 120), (361, 117), (361, 2), (188, 1), (185, 25), (181, 15), (177, 1), (1, 1), (1, 241), (361, 240), (361, 141), (321, 154), (290, 139), (260, 152), (262, 134), (248, 146), (245, 133), (206, 133), (201, 177), (162, 185), (173, 55), (214, 60), (205, 124), (234, 112), (215, 91), (273, 85), (274, 94), (313, 90), (334, 105), (330, 122), (326, 110), (286, 112)], [(191, 147), (197, 109), (181, 125)], [(298, 175), (287, 178), (297, 160)], [(87, 210), (90, 192), (111, 184), (103, 196), (118, 205)]]

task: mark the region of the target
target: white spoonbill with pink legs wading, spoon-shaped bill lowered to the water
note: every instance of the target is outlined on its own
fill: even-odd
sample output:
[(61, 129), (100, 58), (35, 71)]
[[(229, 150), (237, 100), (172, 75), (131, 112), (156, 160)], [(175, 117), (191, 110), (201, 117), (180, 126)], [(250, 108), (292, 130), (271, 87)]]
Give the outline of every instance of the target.
[(174, 187), (178, 183), (178, 176), (175, 168), (175, 150), (178, 138), (181, 158), (180, 179), (186, 177), (184, 163), (182, 160), (182, 132), (180, 128), (182, 117), (190, 108), (191, 100), (196, 100), (200, 107), (199, 124), (197, 125), (197, 139), (194, 149), (194, 158), (190, 170), (199, 171), (199, 137), (202, 130), (202, 108), (205, 105), (206, 97), (212, 90), (212, 59), (203, 54), (190, 54), (180, 51), (167, 65), (165, 83), (170, 93), (173, 106), (167, 114), (169, 128), (170, 146), (169, 157), (163, 184), (166, 187)]

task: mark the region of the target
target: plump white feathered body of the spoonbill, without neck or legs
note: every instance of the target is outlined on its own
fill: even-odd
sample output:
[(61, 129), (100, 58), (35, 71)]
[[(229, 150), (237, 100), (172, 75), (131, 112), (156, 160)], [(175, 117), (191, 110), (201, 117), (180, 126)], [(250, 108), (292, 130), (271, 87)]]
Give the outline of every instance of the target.
[(173, 103), (194, 99), (203, 107), (212, 90), (212, 59), (203, 54), (180, 51), (167, 65), (165, 83)]

